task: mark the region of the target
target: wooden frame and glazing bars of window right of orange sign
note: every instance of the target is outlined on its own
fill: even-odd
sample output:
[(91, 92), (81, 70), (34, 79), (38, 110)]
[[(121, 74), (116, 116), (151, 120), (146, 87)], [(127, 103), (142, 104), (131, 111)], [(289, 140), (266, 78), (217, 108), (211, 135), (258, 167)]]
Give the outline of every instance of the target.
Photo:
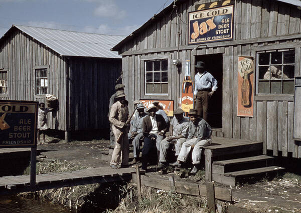
[[(294, 51), (294, 55), (295, 55), (295, 60), (293, 63), (284, 63), (283, 61), (283, 52), (287, 51), (287, 50), (293, 50)], [(281, 64), (272, 64), (271, 63), (271, 52), (281, 52)], [(263, 65), (259, 65), (259, 53), (269, 53), (269, 63), (268, 64), (263, 64)], [(294, 82), (294, 77), (292, 78), (287, 78), (284, 79), (283, 78), (283, 67), (284, 65), (293, 65), (294, 66), (294, 70), (296, 69), (296, 49), (294, 47), (287, 47), (285, 48), (283, 46), (283, 48), (272, 48), (272, 49), (257, 49), (255, 50), (255, 55), (256, 55), (256, 93), (255, 95), (260, 95), (260, 96), (267, 96), (267, 95), (275, 95), (275, 96), (285, 96), (285, 95), (293, 95), (294, 93), (283, 93), (283, 82), (284, 81), (292, 81)], [(280, 78), (279, 80), (277, 79), (259, 79), (259, 67), (260, 66), (281, 66), (281, 71), (282, 71), (282, 78)], [(294, 75), (295, 71), (293, 71), (293, 75)], [(259, 82), (260, 81), (267, 81), (269, 82), (269, 91), (271, 91), (271, 84), (270, 81), (281, 81), (281, 93), (259, 93)], [(255, 96), (256, 99), (256, 96)]]

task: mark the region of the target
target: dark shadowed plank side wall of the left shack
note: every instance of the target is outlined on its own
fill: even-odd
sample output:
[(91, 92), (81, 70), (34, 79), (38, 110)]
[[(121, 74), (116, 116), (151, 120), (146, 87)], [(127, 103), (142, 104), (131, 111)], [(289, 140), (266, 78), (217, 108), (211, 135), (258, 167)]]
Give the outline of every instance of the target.
[(120, 76), (121, 59), (68, 60), (68, 130), (108, 128), (108, 106)]

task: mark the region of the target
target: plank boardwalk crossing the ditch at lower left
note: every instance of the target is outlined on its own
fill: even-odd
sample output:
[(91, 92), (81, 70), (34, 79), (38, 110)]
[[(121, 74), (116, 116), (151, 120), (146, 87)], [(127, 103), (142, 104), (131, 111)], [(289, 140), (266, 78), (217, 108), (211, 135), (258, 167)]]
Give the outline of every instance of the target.
[(0, 177), (0, 195), (93, 183), (128, 181), (135, 168), (112, 169), (96, 167), (72, 172), (51, 172), (36, 176), (36, 186), (30, 185), (30, 175)]

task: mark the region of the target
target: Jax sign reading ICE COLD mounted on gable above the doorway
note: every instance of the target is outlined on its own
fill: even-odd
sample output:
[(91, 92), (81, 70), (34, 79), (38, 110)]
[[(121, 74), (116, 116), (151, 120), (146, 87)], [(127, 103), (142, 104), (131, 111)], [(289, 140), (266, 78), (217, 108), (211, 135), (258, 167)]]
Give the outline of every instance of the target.
[(233, 5), (189, 13), (189, 44), (233, 39)]

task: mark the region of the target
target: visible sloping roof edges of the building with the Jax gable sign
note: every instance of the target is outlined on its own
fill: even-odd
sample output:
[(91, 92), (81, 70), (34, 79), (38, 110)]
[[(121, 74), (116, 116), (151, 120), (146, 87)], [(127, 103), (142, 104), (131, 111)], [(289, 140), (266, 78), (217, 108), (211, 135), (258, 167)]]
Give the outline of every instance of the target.
[[(176, 0), (176, 4), (180, 4), (182, 2), (185, 2), (187, 0)], [(293, 4), (296, 6), (301, 6), (301, 0), (278, 0), (285, 3)], [(156, 20), (165, 17), (165, 14), (167, 14), (169, 11), (173, 9), (174, 2), (172, 2), (169, 6), (161, 10), (158, 14), (155, 14), (152, 18), (150, 18), (148, 21), (146, 21), (144, 24), (142, 24), (138, 29), (130, 33), (128, 36), (126, 36), (123, 40), (121, 40), (119, 43), (117, 43), (115, 46), (111, 48), (112, 51), (119, 51), (124, 43), (129, 41), (134, 35), (138, 34), (142, 30), (148, 27), (148, 25), (152, 24)]]

